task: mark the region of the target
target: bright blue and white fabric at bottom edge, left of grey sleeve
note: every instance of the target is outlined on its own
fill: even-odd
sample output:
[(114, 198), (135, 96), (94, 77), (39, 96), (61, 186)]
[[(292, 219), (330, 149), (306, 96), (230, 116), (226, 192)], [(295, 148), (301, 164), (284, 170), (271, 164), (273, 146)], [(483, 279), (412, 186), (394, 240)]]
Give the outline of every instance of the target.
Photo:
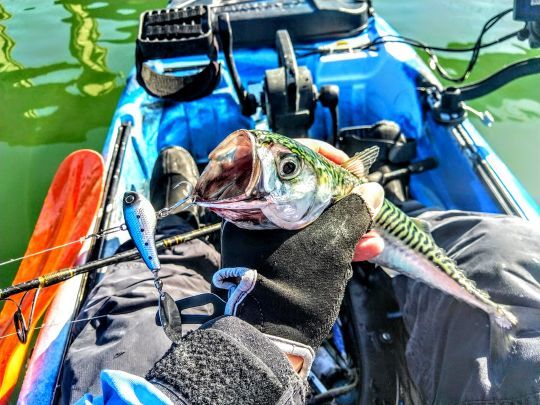
[(173, 405), (165, 394), (144, 378), (117, 370), (103, 370), (100, 376), (103, 395), (85, 394), (75, 405)]

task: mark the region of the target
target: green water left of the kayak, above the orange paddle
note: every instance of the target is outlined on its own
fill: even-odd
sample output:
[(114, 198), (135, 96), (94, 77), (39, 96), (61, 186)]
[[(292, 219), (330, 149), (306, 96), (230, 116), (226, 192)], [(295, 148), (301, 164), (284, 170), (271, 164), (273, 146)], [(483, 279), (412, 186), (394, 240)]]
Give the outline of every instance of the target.
[[(0, 2), (0, 261), (24, 253), (64, 157), (101, 150), (133, 66), (138, 16), (164, 3)], [(16, 267), (0, 268), (0, 285)]]

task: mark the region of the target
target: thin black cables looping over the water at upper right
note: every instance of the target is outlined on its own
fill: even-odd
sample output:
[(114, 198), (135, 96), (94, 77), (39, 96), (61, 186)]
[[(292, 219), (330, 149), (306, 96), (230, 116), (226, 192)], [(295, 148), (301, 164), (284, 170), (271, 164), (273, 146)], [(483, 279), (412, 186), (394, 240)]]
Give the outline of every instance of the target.
[[(436, 70), (444, 79), (454, 82), (454, 83), (461, 83), (465, 81), (471, 74), (474, 66), (476, 65), (478, 61), (478, 57), (480, 55), (480, 50), (484, 48), (491, 47), (493, 45), (499, 44), (501, 42), (507, 41), (511, 38), (514, 38), (518, 36), (518, 34), (522, 30), (517, 30), (514, 32), (511, 32), (509, 34), (506, 34), (496, 40), (493, 40), (491, 42), (482, 43), (482, 39), (484, 35), (493, 28), (504, 16), (509, 14), (513, 9), (509, 8), (504, 11), (501, 11), (500, 13), (496, 14), (495, 16), (491, 17), (482, 27), (482, 30), (480, 31), (480, 34), (478, 38), (476, 39), (475, 44), (472, 47), (466, 47), (466, 48), (448, 48), (448, 47), (440, 47), (440, 46), (431, 46), (427, 45), (419, 40), (413, 39), (413, 38), (407, 38), (403, 37), (401, 35), (382, 35), (374, 38), (370, 42), (360, 45), (360, 46), (352, 46), (347, 47), (346, 44), (340, 46), (323, 46), (320, 48), (297, 48), (299, 50), (305, 50), (307, 52), (298, 55), (299, 58), (315, 55), (315, 54), (327, 54), (332, 53), (334, 51), (339, 51), (340, 49), (345, 50), (365, 50), (369, 49), (376, 45), (381, 45), (385, 43), (403, 43), (410, 45), (415, 48), (420, 48), (424, 52), (426, 52), (429, 56), (429, 66), (432, 70)], [(469, 62), (467, 64), (467, 67), (465, 68), (465, 71), (458, 77), (453, 77), (450, 75), (450, 73), (440, 64), (437, 55), (435, 55), (434, 51), (440, 51), (440, 52), (472, 52), (471, 58), (469, 59)]]

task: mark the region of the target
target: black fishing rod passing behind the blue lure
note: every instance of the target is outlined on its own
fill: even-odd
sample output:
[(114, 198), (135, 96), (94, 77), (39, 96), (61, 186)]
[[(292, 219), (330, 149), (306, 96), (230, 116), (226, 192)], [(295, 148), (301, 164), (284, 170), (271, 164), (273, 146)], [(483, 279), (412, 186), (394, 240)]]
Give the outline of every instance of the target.
[[(170, 248), (173, 246), (181, 245), (182, 243), (188, 242), (190, 240), (200, 238), (206, 235), (209, 235), (213, 232), (217, 232), (221, 228), (221, 224), (208, 225), (200, 229), (196, 229), (191, 232), (182, 233), (179, 235), (171, 236), (170, 238), (163, 239), (156, 243), (156, 248), (158, 250), (164, 248)], [(89, 273), (96, 269), (99, 269), (104, 266), (111, 264), (126, 262), (128, 260), (136, 260), (141, 257), (141, 254), (137, 249), (126, 250), (125, 252), (117, 253), (113, 256), (106, 257), (103, 259), (98, 259), (91, 261), (89, 263), (83, 264), (81, 266), (72, 267), (69, 269), (63, 269), (54, 273), (45, 274), (43, 276), (34, 278), (32, 280), (25, 281), (23, 283), (15, 284), (4, 289), (0, 290), (0, 300), (4, 300), (12, 295), (33, 290), (35, 288), (48, 287), (54, 284), (61, 283), (72, 277), (78, 276), (79, 274)]]

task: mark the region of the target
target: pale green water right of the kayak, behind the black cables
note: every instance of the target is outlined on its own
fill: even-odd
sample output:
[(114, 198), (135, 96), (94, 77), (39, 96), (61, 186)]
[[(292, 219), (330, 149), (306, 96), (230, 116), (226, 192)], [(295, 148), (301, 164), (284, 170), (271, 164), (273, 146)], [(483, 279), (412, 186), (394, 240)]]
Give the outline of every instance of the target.
[[(468, 47), (474, 45), (485, 23), (498, 12), (512, 7), (513, 1), (391, 1), (374, 0), (377, 12), (402, 35), (430, 45)], [(484, 38), (490, 41), (522, 28), (511, 14)], [(461, 76), (470, 54), (439, 53), (439, 61)], [(482, 79), (517, 60), (540, 56), (517, 39), (484, 50), (466, 83)], [(427, 60), (427, 58), (424, 58)], [(444, 82), (444, 81), (443, 81)], [(516, 80), (487, 96), (468, 102), (479, 110), (488, 110), (495, 118), (487, 128), (478, 119), (472, 121), (495, 152), (503, 159), (531, 196), (540, 202), (540, 75)]]

